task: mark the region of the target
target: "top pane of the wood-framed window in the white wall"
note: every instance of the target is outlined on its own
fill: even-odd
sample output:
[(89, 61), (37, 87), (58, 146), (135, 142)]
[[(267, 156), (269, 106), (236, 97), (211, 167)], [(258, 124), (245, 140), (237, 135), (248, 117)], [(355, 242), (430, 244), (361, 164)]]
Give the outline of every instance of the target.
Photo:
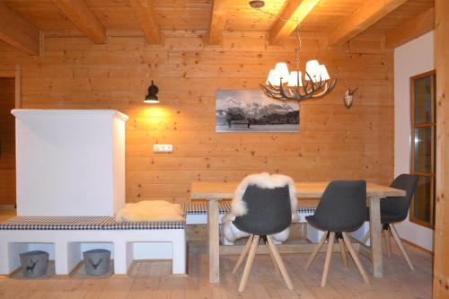
[(415, 79), (415, 124), (432, 122), (432, 76)]

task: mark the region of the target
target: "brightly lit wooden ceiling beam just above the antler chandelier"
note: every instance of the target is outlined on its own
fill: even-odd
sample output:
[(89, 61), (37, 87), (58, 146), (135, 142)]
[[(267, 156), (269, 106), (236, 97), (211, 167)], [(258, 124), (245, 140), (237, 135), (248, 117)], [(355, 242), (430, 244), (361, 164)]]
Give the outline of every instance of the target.
[[(289, 0), (280, 14), (280, 18), (277, 19), (269, 31), (269, 43), (271, 45), (278, 45), (286, 40), (286, 38), (295, 31), (297, 24), (303, 22), (307, 14), (313, 10), (313, 7), (315, 7), (319, 1), (320, 0)], [(289, 19), (292, 21), (286, 21)]]

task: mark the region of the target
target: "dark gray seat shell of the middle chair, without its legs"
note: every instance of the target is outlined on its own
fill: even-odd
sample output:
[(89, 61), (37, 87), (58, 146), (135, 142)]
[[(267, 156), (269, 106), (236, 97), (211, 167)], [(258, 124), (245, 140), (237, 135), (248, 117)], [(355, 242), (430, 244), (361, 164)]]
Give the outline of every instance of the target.
[(334, 180), (324, 190), (313, 219), (327, 231), (348, 232), (364, 224), (365, 215), (366, 181)]

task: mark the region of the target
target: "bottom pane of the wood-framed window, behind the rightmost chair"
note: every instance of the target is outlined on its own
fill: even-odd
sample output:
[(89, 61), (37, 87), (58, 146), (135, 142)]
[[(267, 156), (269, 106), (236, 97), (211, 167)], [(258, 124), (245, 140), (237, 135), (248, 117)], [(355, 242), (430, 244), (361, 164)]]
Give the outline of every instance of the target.
[(413, 216), (427, 223), (430, 222), (430, 208), (432, 207), (430, 204), (431, 180), (432, 178), (430, 177), (419, 177), (418, 187), (413, 200)]

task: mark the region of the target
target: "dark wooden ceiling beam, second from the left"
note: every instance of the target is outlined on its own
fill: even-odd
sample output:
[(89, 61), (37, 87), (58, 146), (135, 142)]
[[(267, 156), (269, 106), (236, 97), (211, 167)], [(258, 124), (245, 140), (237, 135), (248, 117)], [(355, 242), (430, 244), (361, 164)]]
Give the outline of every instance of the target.
[(52, 0), (66, 17), (96, 44), (106, 43), (106, 29), (83, 0)]

